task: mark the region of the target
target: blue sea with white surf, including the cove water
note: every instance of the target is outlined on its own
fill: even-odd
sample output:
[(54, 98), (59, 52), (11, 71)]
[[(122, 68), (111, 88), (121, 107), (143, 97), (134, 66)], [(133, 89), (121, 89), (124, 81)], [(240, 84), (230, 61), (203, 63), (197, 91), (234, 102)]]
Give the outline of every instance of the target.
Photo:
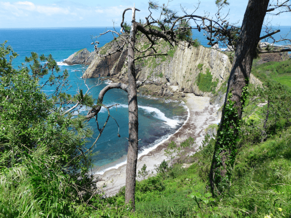
[[(281, 27), (281, 34), (286, 34), (290, 27)], [(72, 88), (67, 93), (74, 95), (76, 90), (87, 90), (83, 80), (82, 66), (68, 66), (63, 61), (74, 52), (87, 48), (93, 51), (91, 45), (92, 36), (99, 36), (112, 28), (33, 28), (33, 29), (0, 29), (0, 43), (8, 40), (6, 45), (11, 45), (19, 56), (13, 61), (13, 66), (17, 68), (24, 63), (26, 56), (30, 56), (31, 52), (45, 56), (51, 54), (57, 61), (61, 71), (67, 69), (69, 71), (69, 80)], [(264, 34), (262, 34), (264, 35)], [(276, 36), (279, 37), (280, 35)], [(193, 38), (198, 38), (200, 43), (207, 46), (207, 40), (203, 33), (193, 32)], [(113, 39), (112, 34), (100, 36), (98, 41), (100, 46)], [(95, 41), (95, 40), (94, 40)], [(45, 79), (45, 78), (44, 78)], [(43, 82), (43, 81), (40, 81)], [(98, 82), (98, 78), (90, 78), (86, 80), (89, 87), (94, 86)], [(109, 80), (105, 83), (94, 87), (90, 93), (95, 99), (102, 88), (104, 88)], [(52, 88), (45, 88), (44, 92), (49, 95), (53, 92)], [(126, 161), (128, 141), (128, 106), (127, 93), (122, 90), (110, 90), (104, 100), (107, 106), (119, 104), (119, 106), (110, 109), (110, 115), (114, 117), (120, 127), (120, 138), (117, 137), (118, 126), (113, 119), (109, 122), (97, 144), (94, 145), (94, 165), (95, 172), (104, 173), (106, 169), (117, 168)], [(174, 134), (185, 122), (188, 112), (183, 102), (174, 102), (159, 100), (149, 96), (138, 96), (139, 104), (139, 156), (146, 154), (158, 144), (166, 140), (170, 135)], [(79, 108), (81, 113), (86, 113), (86, 108)], [(98, 115), (99, 125), (103, 126), (107, 118), (106, 109), (102, 109)], [(93, 137), (88, 139), (87, 147), (90, 147), (97, 138), (99, 132), (96, 122), (92, 119), (89, 122), (90, 128), (93, 130)]]

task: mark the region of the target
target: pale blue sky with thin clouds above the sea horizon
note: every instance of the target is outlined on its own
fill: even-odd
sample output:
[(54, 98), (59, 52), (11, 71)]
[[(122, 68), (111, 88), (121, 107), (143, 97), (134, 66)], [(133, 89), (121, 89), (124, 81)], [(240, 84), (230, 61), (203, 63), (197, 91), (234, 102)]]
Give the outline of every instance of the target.
[[(54, 27), (112, 27), (119, 28), (122, 12), (125, 8), (135, 7), (136, 20), (145, 20), (149, 14), (147, 0), (0, 0), (0, 28), (54, 28)], [(167, 4), (168, 1), (156, 1)], [(224, 14), (229, 13), (230, 23), (242, 23), (248, 0), (228, 0), (229, 6)], [(198, 0), (172, 0), (169, 8), (183, 15), (181, 6), (187, 13), (192, 13)], [(201, 0), (196, 15), (210, 16), (217, 12), (215, 0)], [(157, 14), (154, 14), (157, 15)], [(221, 16), (221, 13), (220, 13)], [(130, 22), (131, 12), (127, 11), (126, 20)], [(271, 19), (270, 19), (271, 20)], [(291, 13), (274, 16), (272, 25), (290, 26)], [(114, 23), (113, 23), (114, 22)]]

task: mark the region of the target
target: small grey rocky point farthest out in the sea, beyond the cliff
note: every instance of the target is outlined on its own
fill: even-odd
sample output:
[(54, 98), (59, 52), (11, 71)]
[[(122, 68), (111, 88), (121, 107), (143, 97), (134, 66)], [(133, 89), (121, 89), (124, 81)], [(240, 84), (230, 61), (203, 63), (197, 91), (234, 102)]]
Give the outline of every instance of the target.
[(67, 58), (64, 63), (68, 65), (74, 64), (84, 64), (90, 65), (91, 62), (97, 57), (96, 52), (89, 52), (87, 48), (83, 48), (79, 51), (76, 51), (69, 58)]

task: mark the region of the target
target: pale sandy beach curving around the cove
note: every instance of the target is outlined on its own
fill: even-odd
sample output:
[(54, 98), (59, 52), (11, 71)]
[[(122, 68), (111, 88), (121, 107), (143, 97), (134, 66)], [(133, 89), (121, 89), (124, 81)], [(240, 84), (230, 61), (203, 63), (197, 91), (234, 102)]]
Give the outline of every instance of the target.
[[(175, 86), (171, 88), (173, 90), (176, 89)], [(210, 105), (209, 97), (199, 97), (195, 96), (193, 93), (185, 93), (185, 98), (182, 100), (185, 101), (185, 105), (189, 111), (188, 119), (175, 134), (168, 138), (168, 140), (138, 159), (137, 172), (146, 164), (146, 170), (155, 174), (154, 165), (159, 165), (163, 160), (167, 160), (164, 149), (171, 141), (179, 145), (184, 140), (192, 137), (196, 142), (196, 147), (193, 148), (194, 152), (204, 139), (206, 134), (205, 129), (209, 125), (214, 123), (217, 124), (220, 121), (220, 118), (216, 116), (216, 111), (219, 107)], [(116, 194), (119, 189), (125, 185), (125, 172), (126, 164), (120, 166), (118, 169), (110, 169), (103, 175), (96, 174), (95, 176), (101, 179), (97, 182), (98, 187), (103, 189), (107, 196)]]

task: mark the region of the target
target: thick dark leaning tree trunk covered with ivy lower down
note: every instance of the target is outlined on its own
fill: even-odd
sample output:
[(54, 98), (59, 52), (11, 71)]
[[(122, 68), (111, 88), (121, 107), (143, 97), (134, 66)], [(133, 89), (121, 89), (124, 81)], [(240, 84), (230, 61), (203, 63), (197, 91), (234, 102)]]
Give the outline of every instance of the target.
[(210, 170), (211, 188), (218, 193), (229, 184), (249, 77), (268, 3), (269, 0), (249, 0), (244, 15)]

